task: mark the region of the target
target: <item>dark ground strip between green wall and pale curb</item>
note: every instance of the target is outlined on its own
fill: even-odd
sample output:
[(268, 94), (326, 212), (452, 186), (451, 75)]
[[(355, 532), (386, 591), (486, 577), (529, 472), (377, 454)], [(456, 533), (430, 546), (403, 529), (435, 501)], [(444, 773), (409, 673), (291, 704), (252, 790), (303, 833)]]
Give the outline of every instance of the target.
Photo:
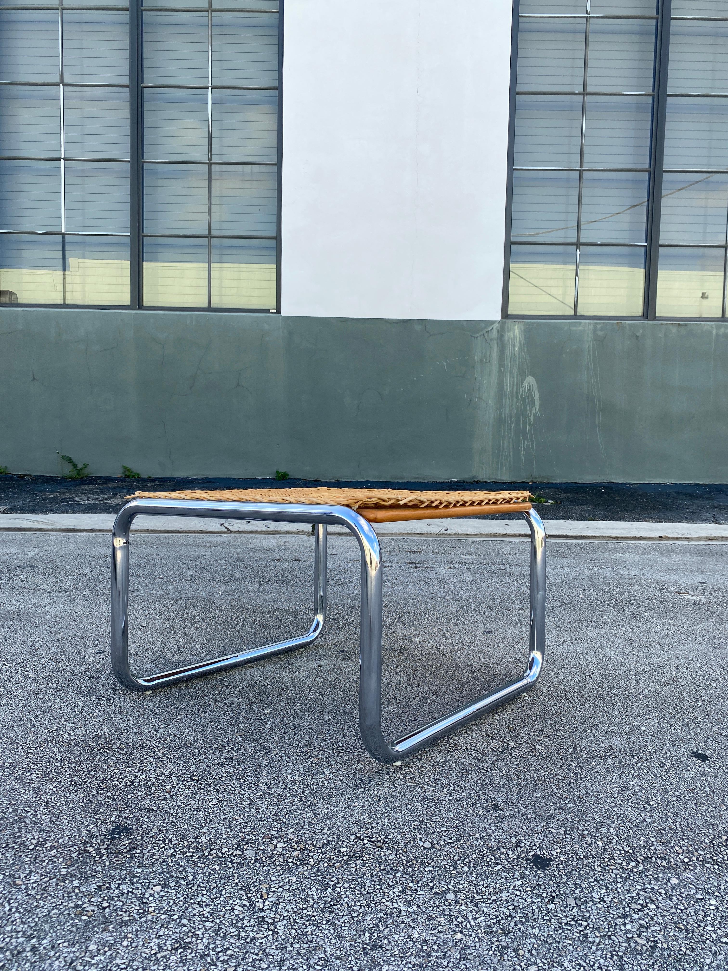
[[(0, 513), (117, 513), (135, 489), (271, 488), (281, 486), (366, 486), (408, 489), (527, 488), (543, 500), (544, 519), (599, 519), (631, 522), (728, 523), (728, 485), (620, 483), (397, 483), (311, 482), (306, 479), (113, 479), (88, 476), (0, 475)], [(489, 516), (488, 519), (493, 519)], [(498, 517), (501, 519), (501, 517)]]

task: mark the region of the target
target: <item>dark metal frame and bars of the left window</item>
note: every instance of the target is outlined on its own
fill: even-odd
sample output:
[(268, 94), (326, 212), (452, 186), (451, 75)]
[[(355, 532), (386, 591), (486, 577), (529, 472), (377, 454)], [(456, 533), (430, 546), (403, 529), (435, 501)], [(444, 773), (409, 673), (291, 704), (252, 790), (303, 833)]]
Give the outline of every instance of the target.
[[(283, 7), (284, 0), (279, 0), (278, 10), (261, 10), (248, 8), (245, 2), (240, 9), (216, 7), (215, 0), (207, 0), (206, 6), (199, 8), (187, 7), (159, 7), (148, 8), (154, 13), (206, 13), (208, 16), (208, 84), (144, 84), (143, 75), (143, 0), (129, 0), (128, 7), (118, 5), (93, 5), (85, 6), (78, 4), (66, 4), (63, 0), (56, 0), (55, 3), (40, 3), (35, 5), (7, 5), (0, 8), (3, 12), (22, 12), (47, 11), (57, 14), (58, 17), (58, 81), (57, 82), (26, 82), (12, 81), (0, 82), (3, 86), (45, 86), (52, 87), (58, 91), (59, 99), (59, 123), (60, 123), (60, 154), (55, 156), (31, 156), (31, 155), (3, 155), (3, 161), (48, 161), (57, 162), (60, 165), (60, 205), (61, 221), (60, 228), (54, 230), (39, 229), (5, 229), (0, 230), (0, 236), (59, 236), (61, 238), (61, 282), (63, 303), (21, 303), (17, 306), (22, 307), (46, 307), (59, 310), (86, 309), (86, 310), (105, 310), (105, 309), (149, 309), (177, 311), (181, 313), (202, 312), (212, 314), (280, 314), (281, 313), (281, 161), (282, 161), (282, 66), (283, 66)], [(128, 11), (129, 26), (129, 82), (128, 84), (104, 82), (73, 82), (66, 83), (63, 74), (63, 14), (66, 11), (77, 12), (116, 12), (126, 13)], [(241, 84), (215, 84), (212, 83), (212, 19), (217, 13), (223, 14), (266, 14), (275, 13), (278, 16), (278, 86), (272, 85), (241, 85)], [(67, 156), (65, 153), (65, 124), (64, 124), (64, 88), (65, 87), (94, 87), (94, 88), (127, 88), (129, 90), (129, 158), (77, 158)], [(167, 159), (143, 159), (143, 130), (144, 130), (144, 90), (146, 87), (154, 88), (199, 88), (208, 91), (208, 157), (206, 161), (199, 164), (208, 167), (208, 231), (206, 234), (197, 233), (145, 233), (144, 232), (144, 164), (154, 164), (156, 162), (173, 162)], [(269, 90), (278, 92), (277, 109), (277, 155), (275, 162), (227, 162), (214, 161), (212, 157), (212, 91), (218, 89), (229, 90)], [(69, 232), (65, 224), (65, 163), (66, 162), (120, 162), (129, 164), (129, 232)], [(183, 160), (183, 164), (198, 164)], [(276, 233), (219, 233), (215, 234), (215, 239), (265, 239), (276, 240), (276, 307), (248, 308), (248, 307), (212, 307), (212, 172), (213, 165), (255, 165), (255, 166), (276, 166), (277, 167), (277, 199), (276, 199)], [(66, 302), (66, 237), (109, 237), (122, 238), (129, 240), (129, 302), (124, 304), (69, 304)], [(143, 260), (144, 260), (144, 239), (145, 238), (175, 238), (175, 239), (196, 239), (203, 238), (208, 240), (208, 306), (207, 307), (161, 307), (145, 305), (143, 299)]]

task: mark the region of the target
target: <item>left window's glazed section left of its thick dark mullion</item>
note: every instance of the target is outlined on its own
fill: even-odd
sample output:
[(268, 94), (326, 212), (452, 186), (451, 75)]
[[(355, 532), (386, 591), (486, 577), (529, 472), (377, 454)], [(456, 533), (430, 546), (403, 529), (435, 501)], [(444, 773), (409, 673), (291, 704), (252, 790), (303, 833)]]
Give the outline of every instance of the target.
[(128, 306), (128, 15), (0, 10), (0, 81), (4, 299)]

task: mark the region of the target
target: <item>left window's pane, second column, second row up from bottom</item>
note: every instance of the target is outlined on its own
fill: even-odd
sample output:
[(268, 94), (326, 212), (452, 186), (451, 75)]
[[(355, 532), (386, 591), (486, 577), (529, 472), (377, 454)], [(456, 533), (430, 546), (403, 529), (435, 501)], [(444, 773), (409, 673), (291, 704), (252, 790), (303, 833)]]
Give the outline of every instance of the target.
[(128, 162), (66, 163), (66, 229), (129, 232)]

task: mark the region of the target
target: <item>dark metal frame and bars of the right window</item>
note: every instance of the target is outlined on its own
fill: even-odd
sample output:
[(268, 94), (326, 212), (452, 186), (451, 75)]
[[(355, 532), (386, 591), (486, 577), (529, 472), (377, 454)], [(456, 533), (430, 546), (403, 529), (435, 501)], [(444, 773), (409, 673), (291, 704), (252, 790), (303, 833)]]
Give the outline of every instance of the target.
[[(585, 5), (586, 6), (586, 5)], [(558, 20), (558, 19), (585, 19), (585, 32), (584, 32), (584, 75), (583, 83), (580, 91), (533, 91), (519, 90), (517, 87), (517, 71), (518, 71), (518, 33), (519, 33), (519, 23), (521, 18), (545, 18)], [(587, 88), (587, 78), (586, 71), (588, 65), (588, 32), (589, 24), (591, 20), (596, 19), (654, 19), (657, 23), (657, 33), (655, 38), (655, 50), (654, 50), (654, 80), (653, 80), (653, 90), (651, 92), (614, 92), (614, 91), (592, 91)], [(672, 318), (660, 318), (657, 316), (657, 278), (658, 278), (658, 268), (659, 268), (659, 255), (660, 251), (664, 249), (722, 249), (724, 251), (724, 275), (723, 275), (723, 295), (722, 295), (722, 318), (726, 318), (726, 305), (728, 304), (728, 214), (726, 222), (726, 239), (722, 243), (713, 244), (660, 244), (660, 219), (662, 210), (662, 196), (663, 196), (663, 179), (667, 174), (675, 173), (685, 173), (689, 174), (694, 172), (698, 175), (711, 175), (711, 174), (723, 174), (728, 172), (726, 169), (678, 169), (678, 168), (665, 168), (665, 133), (666, 133), (666, 118), (667, 118), (667, 108), (670, 98), (676, 97), (711, 97), (711, 98), (728, 98), (728, 93), (718, 93), (718, 92), (678, 92), (669, 90), (668, 85), (668, 69), (670, 60), (670, 38), (671, 38), (671, 26), (673, 21), (702, 21), (711, 22), (715, 20), (728, 21), (728, 17), (688, 17), (688, 16), (676, 16), (672, 15), (672, 0), (658, 0), (655, 7), (655, 14), (652, 16), (645, 15), (595, 15), (591, 14), (588, 9), (584, 14), (521, 14), (519, 10), (519, 0), (513, 0), (513, 30), (512, 30), (512, 45), (511, 45), (511, 96), (510, 96), (510, 109), (509, 109), (509, 145), (508, 145), (508, 184), (507, 184), (507, 202), (506, 202), (506, 224), (505, 224), (505, 248), (504, 248), (504, 285), (503, 285), (503, 305), (502, 305), (502, 317), (504, 319), (535, 319), (535, 320), (547, 320), (547, 319), (559, 319), (559, 318), (590, 318), (590, 319), (607, 319), (607, 320), (617, 320), (623, 318), (623, 315), (583, 315), (579, 314), (579, 261), (580, 253), (586, 247), (596, 247), (601, 248), (627, 248), (627, 247), (642, 247), (645, 250), (645, 291), (644, 291), (644, 306), (643, 314), (641, 316), (630, 317), (630, 319), (647, 319), (647, 320), (659, 320), (659, 319), (672, 319)], [(581, 112), (581, 135), (579, 140), (579, 167), (576, 166), (536, 166), (536, 165), (524, 165), (515, 166), (514, 165), (514, 147), (515, 147), (515, 109), (516, 109), (516, 94), (539, 94), (548, 95), (558, 94), (563, 95), (574, 95), (581, 96), (582, 98), (582, 112)], [(617, 96), (630, 95), (643, 95), (645, 97), (651, 97), (652, 99), (652, 117), (650, 122), (650, 156), (649, 156), (649, 166), (645, 167), (634, 167), (634, 168), (619, 168), (619, 167), (597, 167), (589, 166), (584, 167), (583, 151), (584, 151), (584, 109), (586, 104), (587, 96), (593, 96), (597, 94), (612, 94)], [(540, 314), (540, 315), (524, 315), (524, 314), (511, 314), (509, 312), (509, 302), (510, 302), (510, 279), (511, 279), (511, 253), (512, 246), (520, 245), (523, 241), (513, 239), (512, 237), (512, 223), (513, 223), (513, 175), (516, 171), (573, 171), (579, 172), (579, 199), (578, 199), (578, 216), (577, 216), (577, 240), (576, 243), (573, 241), (563, 242), (563, 243), (542, 243), (540, 245), (546, 246), (569, 246), (575, 247), (576, 249), (576, 267), (575, 267), (575, 304), (574, 312), (571, 315), (559, 315), (559, 314)], [(599, 244), (589, 244), (582, 243), (580, 239), (580, 228), (581, 228), (581, 201), (582, 201), (582, 184), (583, 184), (583, 173), (585, 171), (605, 171), (605, 172), (645, 172), (649, 173), (649, 185), (648, 185), (648, 195), (646, 199), (646, 238), (645, 244), (628, 244), (628, 243), (599, 243)], [(533, 245), (525, 243), (524, 245)], [(719, 320), (721, 318), (678, 318), (678, 319), (711, 319)]]

